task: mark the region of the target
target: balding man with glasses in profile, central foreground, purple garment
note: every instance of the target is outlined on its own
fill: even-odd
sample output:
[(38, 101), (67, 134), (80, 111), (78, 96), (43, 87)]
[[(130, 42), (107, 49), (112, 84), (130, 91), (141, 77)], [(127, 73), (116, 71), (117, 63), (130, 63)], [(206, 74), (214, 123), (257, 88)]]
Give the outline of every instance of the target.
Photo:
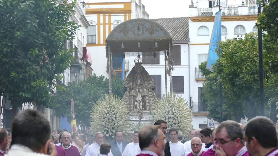
[(147, 125), (139, 132), (140, 154), (137, 156), (163, 156), (167, 140), (157, 125)]

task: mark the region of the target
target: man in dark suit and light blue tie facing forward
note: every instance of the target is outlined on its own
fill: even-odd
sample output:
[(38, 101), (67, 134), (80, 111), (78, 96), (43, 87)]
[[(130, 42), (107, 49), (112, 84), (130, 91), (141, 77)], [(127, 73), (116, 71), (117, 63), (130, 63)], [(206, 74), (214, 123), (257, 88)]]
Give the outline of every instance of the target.
[(123, 133), (116, 132), (115, 133), (115, 141), (111, 142), (111, 152), (113, 156), (122, 156), (122, 153), (125, 150), (129, 142), (123, 141)]

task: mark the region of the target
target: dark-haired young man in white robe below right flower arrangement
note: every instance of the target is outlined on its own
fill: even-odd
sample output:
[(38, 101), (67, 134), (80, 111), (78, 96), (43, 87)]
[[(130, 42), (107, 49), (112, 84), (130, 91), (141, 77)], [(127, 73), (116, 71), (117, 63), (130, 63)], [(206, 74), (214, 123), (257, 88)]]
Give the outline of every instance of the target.
[(185, 145), (178, 141), (178, 129), (171, 128), (169, 130), (171, 141), (170, 143), (170, 151), (173, 156), (185, 156)]

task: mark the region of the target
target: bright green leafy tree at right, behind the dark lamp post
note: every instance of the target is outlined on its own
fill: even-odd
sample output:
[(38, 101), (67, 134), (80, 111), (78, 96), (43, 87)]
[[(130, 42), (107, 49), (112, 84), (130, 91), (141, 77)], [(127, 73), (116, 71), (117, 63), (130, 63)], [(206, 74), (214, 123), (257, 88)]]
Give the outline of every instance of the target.
[[(264, 35), (263, 41), (266, 114), (273, 116), (277, 112), (274, 104), (278, 101), (278, 87), (277, 83), (274, 83), (277, 81), (277, 43), (269, 42), (268, 35)], [(217, 52), (219, 59), (214, 64), (213, 73), (208, 73), (203, 65), (205, 63), (199, 66), (202, 72), (208, 73), (203, 83), (203, 98), (208, 104), (209, 118), (216, 121), (220, 119), (219, 81), (223, 86), (224, 120), (240, 121), (257, 116), (260, 108), (257, 34), (249, 33), (244, 37), (238, 36), (219, 42)]]

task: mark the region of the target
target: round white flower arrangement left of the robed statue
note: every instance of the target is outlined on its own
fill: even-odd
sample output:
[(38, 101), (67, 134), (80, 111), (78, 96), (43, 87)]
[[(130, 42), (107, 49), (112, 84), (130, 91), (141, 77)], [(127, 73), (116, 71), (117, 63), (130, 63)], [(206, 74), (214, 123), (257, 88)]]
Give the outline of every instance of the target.
[(91, 130), (114, 137), (116, 131), (126, 132), (129, 123), (128, 109), (116, 95), (108, 95), (97, 101), (91, 112)]

